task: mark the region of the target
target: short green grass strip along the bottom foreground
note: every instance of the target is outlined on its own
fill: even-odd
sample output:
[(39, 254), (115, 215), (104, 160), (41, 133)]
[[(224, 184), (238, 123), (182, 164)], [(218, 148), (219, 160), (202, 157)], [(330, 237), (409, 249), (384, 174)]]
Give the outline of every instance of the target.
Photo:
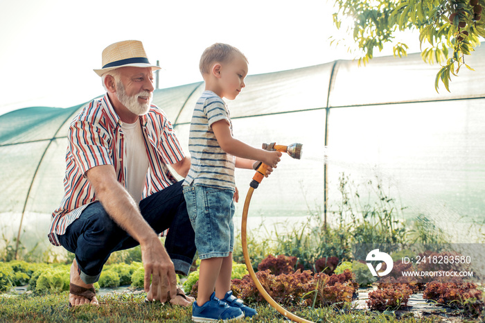
[[(84, 305), (76, 308), (67, 306), (67, 296), (67, 292), (42, 296), (4, 295), (0, 297), (0, 322), (191, 322), (191, 308), (160, 303), (145, 304), (145, 293), (100, 296), (100, 306)], [(253, 320), (232, 322), (289, 322), (269, 304), (258, 304), (255, 307), (258, 315)], [(337, 311), (333, 308), (288, 310), (312, 322), (457, 322), (436, 315), (416, 319), (412, 313), (396, 316), (394, 313)]]

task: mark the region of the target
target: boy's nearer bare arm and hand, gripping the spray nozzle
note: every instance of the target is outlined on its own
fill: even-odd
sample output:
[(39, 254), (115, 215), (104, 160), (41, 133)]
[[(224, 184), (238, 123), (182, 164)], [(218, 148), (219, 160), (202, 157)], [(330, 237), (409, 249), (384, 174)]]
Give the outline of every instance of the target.
[(279, 157), (281, 157), (281, 152), (254, 148), (232, 137), (229, 124), (226, 120), (216, 121), (211, 127), (215, 138), (218, 139), (220, 148), (228, 154), (244, 159), (263, 161), (263, 163), (272, 168), (276, 168), (276, 164), (280, 161)]

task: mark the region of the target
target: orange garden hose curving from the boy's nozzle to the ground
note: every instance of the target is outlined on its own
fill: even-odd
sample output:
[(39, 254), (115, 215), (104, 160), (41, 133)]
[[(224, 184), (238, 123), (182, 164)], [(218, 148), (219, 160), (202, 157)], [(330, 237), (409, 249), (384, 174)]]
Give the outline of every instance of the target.
[(243, 220), (241, 222), (241, 244), (243, 245), (244, 261), (246, 263), (247, 270), (249, 271), (249, 275), (251, 276), (254, 283), (256, 284), (256, 288), (258, 288), (259, 293), (263, 295), (266, 301), (270, 303), (270, 305), (273, 306), (273, 308), (276, 309), (276, 311), (279, 311), (279, 313), (285, 315), (285, 317), (288, 317), (290, 320), (294, 322), (313, 323), (312, 321), (305, 320), (297, 315), (294, 315), (291, 312), (286, 311), (285, 308), (281, 307), (278, 303), (276, 303), (274, 299), (272, 299), (272, 297), (266, 292), (265, 288), (263, 288), (261, 283), (258, 281), (258, 277), (256, 277), (256, 274), (254, 273), (253, 266), (251, 265), (251, 259), (249, 259), (249, 254), (247, 252), (247, 238), (246, 238), (247, 211), (249, 209), (249, 202), (251, 202), (253, 192), (254, 192), (254, 189), (252, 187), (249, 187), (249, 191), (247, 191), (246, 200), (244, 202)]

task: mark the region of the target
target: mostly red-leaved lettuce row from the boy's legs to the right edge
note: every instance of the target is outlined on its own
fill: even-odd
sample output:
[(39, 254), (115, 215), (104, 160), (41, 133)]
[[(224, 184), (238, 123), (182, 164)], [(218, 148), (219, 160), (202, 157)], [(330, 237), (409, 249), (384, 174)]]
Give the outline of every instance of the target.
[[(294, 256), (267, 256), (258, 265), (256, 277), (266, 292), (283, 306), (307, 307), (333, 306), (344, 308), (350, 306), (358, 295), (359, 287), (377, 286), (369, 293), (367, 306), (376, 311), (396, 311), (406, 309), (409, 297), (413, 293), (423, 293), (423, 298), (459, 310), (466, 316), (476, 317), (484, 311), (483, 292), (475, 283), (454, 279), (432, 279), (426, 283), (413, 279), (396, 279), (396, 272), (403, 268), (411, 270), (409, 264), (397, 262), (387, 279), (376, 282), (367, 268), (359, 261), (342, 262), (329, 269), (328, 266), (319, 272), (297, 269)], [(319, 259), (319, 263), (332, 265), (335, 259)], [(320, 266), (321, 268), (321, 266)], [(331, 268), (331, 267), (330, 267)], [(326, 273), (328, 272), (328, 274)], [(234, 272), (233, 272), (234, 274)], [(238, 275), (243, 271), (238, 272)], [(197, 297), (198, 272), (193, 272), (184, 283), (186, 293)], [(249, 274), (231, 281), (231, 289), (245, 302), (265, 302), (258, 292)]]

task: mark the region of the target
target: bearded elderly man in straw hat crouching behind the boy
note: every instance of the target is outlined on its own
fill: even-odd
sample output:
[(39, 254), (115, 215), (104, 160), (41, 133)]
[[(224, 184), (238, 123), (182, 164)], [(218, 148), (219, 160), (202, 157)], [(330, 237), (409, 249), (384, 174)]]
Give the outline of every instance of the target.
[(53, 245), (76, 254), (69, 305), (98, 304), (93, 283), (109, 255), (139, 244), (147, 299), (189, 306), (193, 298), (177, 289), (176, 273), (188, 274), (194, 232), (182, 182), (166, 165), (185, 177), (191, 161), (166, 114), (150, 104), (159, 67), (139, 41), (112, 44), (102, 56), (103, 68), (94, 71), (107, 93), (71, 122), (64, 198), (48, 233)]

